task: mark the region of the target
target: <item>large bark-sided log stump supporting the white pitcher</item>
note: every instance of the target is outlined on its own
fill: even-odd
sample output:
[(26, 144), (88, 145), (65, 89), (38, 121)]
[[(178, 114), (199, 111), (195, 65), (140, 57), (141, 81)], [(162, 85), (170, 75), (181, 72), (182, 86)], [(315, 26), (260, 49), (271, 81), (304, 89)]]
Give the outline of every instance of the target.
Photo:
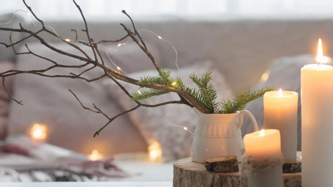
[[(300, 152), (298, 153), (300, 155)], [(238, 163), (241, 168), (241, 163)], [(180, 159), (173, 164), (173, 187), (241, 187), (240, 171), (214, 173), (206, 170), (191, 158)], [(301, 187), (301, 173), (283, 173), (284, 187)]]

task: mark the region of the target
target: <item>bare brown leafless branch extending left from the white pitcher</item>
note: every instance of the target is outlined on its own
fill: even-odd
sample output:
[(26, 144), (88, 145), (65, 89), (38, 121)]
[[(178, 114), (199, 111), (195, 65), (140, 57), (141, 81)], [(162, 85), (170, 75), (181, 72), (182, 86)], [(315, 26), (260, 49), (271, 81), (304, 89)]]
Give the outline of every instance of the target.
[[(86, 35), (87, 35), (88, 40), (89, 40), (89, 42), (80, 42), (80, 43), (82, 43), (82, 44), (84, 44), (84, 45), (87, 45), (87, 46), (91, 47), (91, 49), (93, 50), (93, 53), (94, 53), (94, 57), (95, 57), (95, 60), (92, 60), (92, 58), (91, 58), (91, 57), (90, 57), (85, 51), (83, 51), (79, 46), (77, 46), (77, 45), (75, 45), (75, 44), (73, 44), (73, 43), (71, 43), (71, 42), (68, 42), (68, 41), (64, 40), (63, 38), (61, 38), (60, 36), (58, 36), (56, 33), (54, 33), (54, 32), (52, 32), (52, 31), (46, 29), (46, 27), (45, 27), (43, 21), (40, 20), (39, 18), (37, 18), (37, 16), (34, 14), (34, 12), (31, 10), (31, 8), (26, 4), (25, 0), (23, 0), (23, 2), (24, 2), (24, 4), (25, 4), (25, 6), (30, 10), (30, 12), (32, 13), (32, 15), (33, 15), (33, 16), (34, 16), (39, 22), (41, 22), (43, 28), (42, 28), (41, 30), (37, 31), (37, 32), (32, 32), (32, 31), (30, 31), (30, 30), (24, 29), (24, 28), (22, 27), (21, 24), (19, 24), (20, 29), (0, 28), (0, 30), (3, 30), (3, 31), (11, 31), (11, 34), (10, 34), (10, 42), (11, 42), (11, 44), (10, 44), (10, 45), (5, 44), (5, 43), (0, 43), (0, 44), (4, 45), (5, 47), (12, 47), (13, 50), (14, 50), (14, 52), (15, 52), (15, 54), (32, 54), (32, 55), (34, 55), (34, 56), (36, 56), (36, 57), (38, 57), (38, 58), (41, 58), (41, 59), (44, 59), (44, 60), (47, 60), (47, 61), (51, 62), (53, 65), (50, 66), (50, 67), (48, 67), (48, 68), (46, 68), (46, 69), (41, 69), (41, 70), (30, 70), (30, 71), (9, 70), (9, 71), (6, 71), (6, 72), (2, 72), (2, 73), (0, 73), (0, 77), (3, 79), (2, 84), (3, 84), (4, 88), (5, 88), (5, 90), (6, 90), (7, 94), (8, 94), (8, 96), (9, 96), (12, 100), (14, 100), (15, 102), (17, 102), (17, 103), (19, 103), (19, 104), (22, 104), (22, 103), (21, 103), (22, 101), (18, 101), (18, 100), (14, 99), (14, 98), (10, 95), (9, 91), (7, 90), (7, 88), (6, 88), (5, 85), (4, 85), (4, 80), (5, 80), (5, 77), (13, 76), (13, 75), (18, 75), (18, 74), (23, 74), (23, 73), (39, 75), (39, 76), (42, 76), (42, 77), (51, 77), (51, 78), (62, 77), (62, 78), (71, 78), (71, 79), (82, 79), (82, 80), (85, 80), (85, 81), (87, 81), (87, 82), (93, 82), (93, 81), (96, 81), (96, 80), (100, 80), (100, 79), (102, 79), (102, 78), (104, 78), (104, 77), (109, 77), (112, 81), (114, 81), (114, 82), (115, 82), (115, 83), (116, 83), (116, 84), (117, 84), (117, 85), (118, 85), (118, 86), (124, 91), (125, 94), (127, 94), (130, 98), (132, 98), (133, 96), (132, 96), (132, 95), (131, 95), (131, 94), (130, 94), (130, 93), (129, 93), (129, 92), (128, 92), (128, 91), (127, 91), (127, 90), (126, 90), (126, 89), (125, 89), (120, 83), (119, 83), (119, 80), (120, 80), (120, 81), (124, 81), (124, 82), (126, 82), (126, 83), (133, 84), (133, 85), (138, 85), (138, 84), (139, 84), (139, 81), (136, 80), (136, 79), (133, 79), (133, 78), (131, 78), (131, 77), (125, 76), (125, 75), (123, 75), (123, 74), (121, 74), (121, 73), (119, 73), (119, 72), (117, 72), (117, 71), (115, 71), (115, 70), (112, 70), (112, 69), (106, 67), (106, 66), (104, 65), (104, 60), (103, 60), (103, 58), (102, 58), (102, 56), (101, 56), (101, 54), (100, 54), (100, 51), (99, 51), (99, 49), (98, 49), (98, 44), (100, 44), (100, 43), (117, 43), (117, 42), (121, 42), (121, 41), (123, 41), (123, 40), (126, 39), (127, 37), (131, 37), (131, 38), (134, 40), (134, 42), (137, 43), (137, 45), (138, 45), (138, 46), (139, 46), (139, 47), (140, 47), (140, 48), (141, 48), (141, 49), (147, 54), (147, 56), (148, 56), (148, 57), (150, 58), (150, 60), (153, 62), (155, 68), (156, 68), (158, 71), (160, 71), (160, 68), (159, 68), (159, 66), (157, 65), (157, 63), (156, 63), (156, 61), (155, 61), (153, 55), (147, 50), (147, 46), (146, 46), (145, 42), (143, 41), (143, 39), (142, 39), (141, 36), (139, 35), (139, 32), (137, 31), (137, 29), (135, 28), (135, 25), (134, 25), (134, 22), (133, 22), (132, 18), (131, 18), (131, 17), (130, 17), (125, 11), (123, 11), (123, 13), (124, 13), (125, 15), (127, 15), (127, 16), (129, 17), (129, 19), (131, 20), (132, 25), (133, 25), (133, 29), (134, 29), (134, 33), (133, 33), (130, 29), (128, 29), (124, 24), (121, 24), (121, 25), (123, 26), (124, 30), (127, 32), (127, 35), (126, 35), (126, 36), (124, 36), (123, 38), (121, 38), (121, 39), (119, 39), (119, 40), (102, 40), (102, 41), (100, 41), (100, 42), (98, 42), (98, 43), (95, 43), (94, 40), (90, 37), (89, 30), (88, 30), (88, 25), (87, 25), (87, 21), (86, 21), (84, 15), (83, 15), (83, 12), (82, 12), (80, 6), (76, 3), (75, 0), (73, 0), (74, 4), (76, 5), (76, 7), (78, 8), (78, 10), (80, 11), (81, 16), (82, 16), (82, 18), (83, 18), (83, 21), (84, 21), (84, 23), (85, 23), (85, 29), (83, 29), (82, 31), (86, 32)], [(49, 34), (51, 34), (51, 35), (57, 37), (57, 38), (60, 38), (61, 40), (63, 40), (63, 41), (64, 41), (65, 43), (67, 43), (68, 45), (70, 45), (70, 46), (76, 48), (77, 50), (79, 50), (82, 54), (84, 54), (85, 57), (81, 57), (81, 56), (78, 56), (78, 55), (74, 55), (74, 54), (71, 54), (71, 53), (67, 53), (67, 52), (65, 52), (65, 51), (62, 51), (62, 50), (60, 50), (60, 49), (57, 49), (57, 48), (51, 46), (51, 45), (48, 44), (48, 43), (47, 43), (42, 37), (40, 37), (40, 36), (38, 35), (40, 32), (43, 32), (43, 31), (45, 31), (45, 32), (47, 32), (47, 33), (49, 33)], [(74, 32), (75, 32), (75, 40), (78, 40), (78, 33), (77, 33), (77, 30), (72, 29), (71, 31), (74, 31)], [(21, 40), (18, 41), (18, 42), (13, 43), (13, 41), (12, 41), (12, 33), (13, 33), (13, 32), (27, 33), (27, 34), (29, 34), (29, 36), (27, 36), (27, 37), (21, 39)], [(139, 37), (141, 43), (140, 43), (139, 40), (136, 38), (136, 35), (138, 35), (138, 37)], [(38, 39), (38, 40), (41, 42), (42, 45), (46, 46), (47, 48), (49, 48), (49, 49), (51, 49), (51, 50), (53, 50), (53, 51), (55, 51), (55, 52), (57, 52), (57, 53), (59, 53), (59, 54), (61, 54), (61, 55), (66, 55), (66, 56), (68, 56), (68, 57), (72, 57), (72, 58), (78, 59), (78, 60), (83, 61), (83, 62), (85, 62), (85, 63), (84, 63), (84, 64), (81, 64), (81, 65), (75, 65), (75, 66), (60, 65), (60, 64), (58, 64), (57, 62), (55, 62), (55, 61), (53, 61), (53, 60), (51, 60), (51, 59), (48, 59), (48, 58), (42, 57), (42, 56), (40, 56), (40, 55), (37, 55), (36, 53), (33, 53), (33, 52), (28, 48), (27, 44), (25, 44), (25, 46), (26, 46), (26, 48), (27, 48), (27, 50), (28, 50), (29, 52), (17, 53), (17, 52), (15, 51), (14, 45), (16, 45), (16, 44), (18, 44), (18, 43), (20, 43), (20, 42), (22, 42), (22, 41), (24, 41), (24, 40), (26, 40), (26, 39), (28, 39), (28, 38), (30, 38), (30, 37), (34, 37), (34, 38)], [(97, 55), (98, 55), (98, 56), (97, 56)], [(98, 57), (100, 58), (101, 63), (99, 63), (99, 61), (98, 61)], [(83, 71), (82, 73), (80, 73), (79, 75), (75, 75), (75, 74), (73, 74), (73, 73), (70, 73), (71, 75), (46, 75), (46, 74), (44, 74), (45, 72), (47, 72), (47, 71), (49, 71), (49, 70), (51, 70), (51, 69), (53, 69), (53, 68), (55, 68), (55, 67), (61, 67), (61, 68), (83, 68), (83, 67), (86, 67), (86, 66), (89, 65), (89, 64), (93, 64), (93, 67), (88, 68), (87, 70), (84, 70), (84, 71)], [(97, 77), (97, 78), (95, 78), (95, 79), (86, 79), (86, 78), (81, 77), (81, 75), (82, 75), (83, 73), (88, 72), (88, 71), (90, 71), (90, 70), (92, 70), (92, 69), (94, 69), (94, 68), (96, 68), (96, 67), (99, 67), (99, 68), (103, 69), (105, 73), (104, 73), (102, 76)], [(140, 85), (140, 86), (142, 86), (142, 85)], [(162, 106), (162, 105), (166, 105), (166, 104), (177, 103), (177, 104), (186, 104), (186, 105), (191, 106), (191, 107), (194, 106), (194, 107), (196, 107), (198, 110), (200, 110), (201, 112), (206, 113), (206, 111), (205, 111), (202, 107), (200, 107), (197, 103), (195, 103), (195, 101), (189, 96), (189, 94), (187, 94), (187, 93), (184, 92), (184, 91), (178, 90), (178, 89), (176, 89), (176, 88), (168, 88), (168, 87), (163, 87), (163, 86), (144, 85), (144, 86), (142, 86), (142, 87), (151, 88), (151, 89), (157, 89), (157, 90), (164, 90), (164, 91), (169, 91), (169, 92), (177, 93), (177, 94), (179, 95), (179, 97), (180, 97), (180, 100), (167, 101), (167, 102), (163, 102), (163, 103), (159, 103), (159, 104), (143, 104), (143, 103), (141, 103), (140, 101), (135, 100), (134, 102), (137, 103), (137, 106), (136, 106), (136, 107), (134, 107), (134, 108), (132, 108), (132, 109), (130, 109), (130, 110), (124, 111), (124, 112), (122, 112), (122, 113), (120, 113), (120, 114), (118, 114), (118, 115), (116, 115), (116, 116), (110, 118), (110, 117), (109, 117), (107, 114), (105, 114), (101, 109), (99, 109), (94, 103), (93, 103), (93, 105), (94, 105), (94, 108), (95, 108), (95, 109), (92, 109), (92, 108), (89, 108), (89, 107), (84, 106), (83, 103), (80, 101), (80, 99), (76, 96), (76, 94), (74, 94), (71, 90), (69, 90), (69, 91), (75, 96), (75, 98), (80, 102), (81, 106), (82, 106), (84, 109), (90, 110), (90, 111), (95, 112), (95, 113), (100, 113), (100, 114), (104, 115), (105, 117), (107, 117), (107, 118), (109, 119), (109, 122), (108, 122), (107, 124), (105, 124), (102, 128), (100, 128), (100, 129), (94, 134), (94, 137), (95, 137), (96, 135), (98, 135), (98, 134), (99, 134), (99, 133), (100, 133), (100, 132), (101, 132), (101, 131), (102, 131), (102, 130), (108, 125), (108, 124), (110, 124), (114, 119), (116, 119), (117, 117), (119, 117), (119, 116), (121, 116), (121, 115), (123, 115), (123, 114), (126, 114), (126, 113), (128, 113), (128, 112), (131, 112), (131, 111), (133, 111), (133, 110), (139, 108), (140, 106), (144, 106), (144, 107), (158, 107), (158, 106)]]

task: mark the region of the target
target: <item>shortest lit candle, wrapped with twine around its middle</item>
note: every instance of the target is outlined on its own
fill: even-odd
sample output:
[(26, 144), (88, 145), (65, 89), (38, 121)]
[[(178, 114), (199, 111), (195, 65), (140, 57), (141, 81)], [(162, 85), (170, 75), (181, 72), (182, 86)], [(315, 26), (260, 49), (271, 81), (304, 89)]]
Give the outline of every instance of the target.
[[(252, 156), (253, 165), (281, 159), (280, 132), (277, 129), (263, 129), (244, 136), (246, 156)], [(283, 187), (282, 165), (253, 171), (248, 177), (249, 187)]]

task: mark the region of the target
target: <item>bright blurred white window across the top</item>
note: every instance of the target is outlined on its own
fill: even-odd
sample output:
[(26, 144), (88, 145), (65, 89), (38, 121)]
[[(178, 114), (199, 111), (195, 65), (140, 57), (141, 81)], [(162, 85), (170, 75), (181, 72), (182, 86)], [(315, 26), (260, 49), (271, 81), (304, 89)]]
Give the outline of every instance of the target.
[[(40, 18), (81, 19), (72, 0), (26, 0)], [(161, 16), (184, 19), (314, 18), (331, 17), (332, 0), (76, 0), (87, 19), (136, 19)], [(0, 0), (0, 12), (27, 10), (22, 0)], [(21, 14), (21, 13), (20, 13)]]

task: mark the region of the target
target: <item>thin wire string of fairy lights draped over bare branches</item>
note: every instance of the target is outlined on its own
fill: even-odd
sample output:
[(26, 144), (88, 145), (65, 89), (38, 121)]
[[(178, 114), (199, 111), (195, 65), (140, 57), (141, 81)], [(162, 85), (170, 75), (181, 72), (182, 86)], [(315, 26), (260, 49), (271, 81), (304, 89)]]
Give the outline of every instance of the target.
[[(42, 25), (36, 25), (36, 24), (35, 24), (35, 20), (34, 20), (33, 16), (31, 15), (31, 13), (29, 13), (29, 12), (27, 12), (27, 11), (24, 11), (24, 10), (21, 10), (21, 9), (17, 9), (17, 10), (14, 12), (14, 14), (13, 14), (13, 16), (12, 16), (12, 18), (11, 18), (10, 21), (8, 21), (8, 22), (6, 22), (6, 23), (0, 23), (0, 25), (5, 25), (5, 24), (9, 24), (9, 23), (11, 23), (11, 22), (13, 21), (15, 15), (16, 15), (16, 13), (17, 13), (17, 11), (22, 11), (22, 12), (27, 13), (27, 15), (31, 17), (32, 22), (33, 22), (33, 24), (34, 24), (35, 26), (43, 27)], [(70, 39), (68, 39), (68, 38), (67, 38), (67, 39), (63, 39), (63, 38), (61, 38), (61, 37), (58, 35), (58, 33), (57, 33), (57, 32), (56, 32), (51, 26), (48, 26), (48, 25), (44, 25), (44, 26), (45, 26), (45, 27), (48, 27), (48, 28), (50, 28), (50, 29), (52, 29), (52, 31), (56, 34), (56, 36), (57, 36), (59, 39), (65, 41), (65, 42), (84, 42), (84, 43), (87, 43), (87, 44), (96, 44), (96, 45), (102, 46), (102, 47), (106, 50), (106, 55), (107, 55), (107, 57), (109, 58), (109, 60), (112, 62), (112, 64), (113, 64), (113, 65), (114, 65), (119, 71), (123, 72), (124, 74), (126, 74), (126, 75), (128, 75), (128, 76), (131, 76), (131, 75), (127, 74), (126, 72), (124, 72), (123, 70), (121, 70), (121, 68), (120, 68), (119, 66), (117, 66), (116, 61), (115, 61), (115, 52), (117, 51), (117, 48), (120, 47), (120, 46), (126, 45), (131, 39), (129, 39), (129, 40), (128, 40), (127, 42), (125, 42), (125, 43), (119, 43), (119, 44), (117, 45), (116, 49), (113, 51), (113, 60), (112, 60), (112, 59), (110, 58), (109, 54), (108, 54), (108, 50), (107, 50), (107, 48), (106, 48), (104, 45), (99, 44), (99, 43), (97, 43), (97, 42), (89, 42), (89, 41), (83, 41), (83, 40), (70, 40)], [(175, 65), (176, 65), (176, 67), (177, 67), (177, 69), (178, 69), (178, 72), (179, 72), (179, 78), (180, 78), (180, 77), (181, 77), (181, 72), (180, 72), (180, 69), (179, 69), (178, 64), (177, 64), (178, 54), (177, 54), (177, 50), (176, 50), (175, 47), (172, 45), (172, 43), (169, 42), (169, 41), (167, 41), (167, 40), (164, 40), (161, 36), (157, 35), (156, 33), (152, 32), (152, 31), (150, 31), (150, 30), (142, 29), (142, 30), (140, 30), (140, 31), (138, 31), (138, 32), (141, 32), (141, 31), (147, 31), (147, 32), (150, 32), (150, 33), (156, 35), (160, 40), (163, 40), (163, 41), (169, 43), (169, 44), (172, 46), (172, 48), (173, 48), (173, 50), (175, 51), (175, 54), (176, 54)], [(131, 76), (131, 77), (133, 77), (133, 76)], [(175, 84), (176, 84), (175, 82), (172, 83), (172, 85), (175, 85)], [(130, 85), (131, 85), (131, 84), (130, 84)], [(131, 86), (133, 87), (133, 85), (131, 85)], [(134, 88), (134, 87), (133, 87), (133, 88)], [(134, 89), (135, 89), (139, 94), (142, 94), (142, 93), (141, 93), (139, 90), (137, 90), (136, 88), (134, 88)], [(148, 99), (146, 99), (146, 100), (147, 100), (150, 104), (153, 104), (153, 103), (152, 103), (151, 101), (149, 101)], [(175, 126), (175, 127), (181, 127), (181, 128), (183, 128), (184, 130), (186, 130), (186, 131), (188, 131), (188, 132), (190, 132), (191, 134), (194, 135), (194, 133), (191, 132), (190, 130), (188, 130), (187, 127), (185, 127), (185, 126), (181, 126), (181, 125), (175, 125), (175, 124), (171, 123), (169, 120), (166, 119), (166, 117), (161, 113), (161, 111), (160, 111), (159, 109), (157, 109), (157, 110), (159, 111), (159, 113), (161, 114), (161, 116), (166, 120), (166, 122), (168, 122), (169, 124), (171, 124), (171, 125), (173, 125), (173, 126)]]

